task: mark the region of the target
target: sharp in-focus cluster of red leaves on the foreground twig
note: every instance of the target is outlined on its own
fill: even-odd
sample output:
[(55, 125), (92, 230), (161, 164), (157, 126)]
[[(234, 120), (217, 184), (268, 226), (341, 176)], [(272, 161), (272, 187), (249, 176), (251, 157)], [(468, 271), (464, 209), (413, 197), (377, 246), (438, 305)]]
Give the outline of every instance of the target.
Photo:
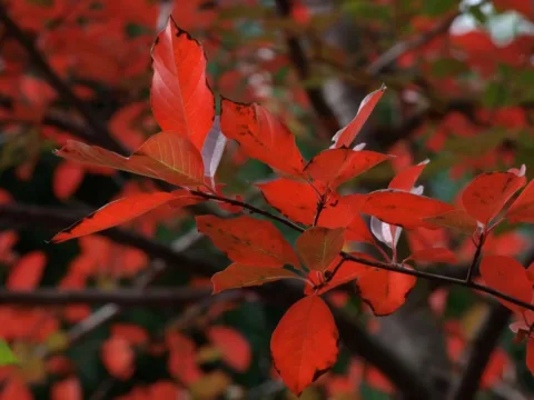
[[(445, 247), (423, 247), (398, 263), (397, 241), (403, 229), (455, 228), (474, 236), (479, 251), (487, 236), (504, 219), (534, 221), (532, 182), (510, 206), (512, 197), (526, 183), (524, 168), (476, 177), (464, 190), (459, 208), (424, 197), (423, 188), (415, 187), (426, 161), (400, 170), (385, 190), (342, 194), (339, 186), (390, 159), (387, 154), (363, 150), (365, 144), (352, 148), (385, 88), (364, 99), (354, 120), (334, 137), (330, 149), (306, 161), (284, 122), (257, 103), (243, 104), (222, 98), (219, 124), (215, 116), (216, 100), (206, 81), (202, 48), (174, 20), (158, 36), (152, 60), (151, 106), (162, 132), (150, 137), (130, 157), (75, 141), (67, 142), (57, 154), (71, 161), (162, 180), (180, 189), (129, 194), (102, 207), (52, 240), (60, 242), (93, 233), (162, 204), (177, 208), (210, 199), (238, 206), (227, 210), (229, 212), (240, 212), (245, 208), (298, 230), (301, 234), (295, 251), (270, 221), (246, 216), (231, 219), (197, 217), (198, 230), (233, 261), (226, 270), (214, 276), (214, 292), (280, 279), (305, 282), (306, 296), (286, 312), (271, 338), (274, 364), (297, 394), (337, 359), (337, 328), (320, 294), (355, 281), (359, 296), (374, 313), (388, 314), (404, 303), (416, 282), (416, 271), (407, 261), (456, 260)], [(280, 174), (257, 187), (266, 201), (287, 219), (221, 196), (215, 174), (225, 138), (235, 140), (248, 157), (263, 161)], [(372, 216), (370, 230), (362, 214)], [(369, 254), (344, 252), (352, 241), (367, 242), (379, 249), (385, 262)], [(390, 253), (378, 241), (389, 248)], [(525, 278), (527, 272), (521, 268), (523, 276), (513, 276), (507, 267), (515, 261), (496, 257), (486, 256), (482, 261), (481, 272), (488, 287), (530, 303), (532, 284)], [(83, 263), (90, 262), (83, 260)], [(504, 264), (506, 272), (501, 272)], [(500, 277), (501, 273), (506, 279)], [(517, 297), (518, 286), (522, 291)], [(524, 310), (516, 309), (516, 304), (511, 307), (523, 312), (525, 326), (530, 327)], [(220, 330), (211, 333), (215, 342), (226, 334)], [(228, 338), (222, 339), (226, 340)], [(106, 362), (113, 376), (132, 373), (130, 346), (120, 337), (111, 337), (106, 343), (105, 351), (115, 354)], [(176, 348), (182, 351), (187, 346)], [(240, 364), (235, 366), (240, 368)], [(187, 373), (194, 371), (191, 368)]]

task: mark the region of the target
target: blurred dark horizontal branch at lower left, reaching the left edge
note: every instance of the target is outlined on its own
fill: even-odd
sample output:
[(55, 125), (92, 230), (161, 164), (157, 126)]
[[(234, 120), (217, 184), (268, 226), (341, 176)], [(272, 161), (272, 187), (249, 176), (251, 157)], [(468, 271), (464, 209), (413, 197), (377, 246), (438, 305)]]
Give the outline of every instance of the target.
[(211, 289), (115, 289), (112, 291), (87, 289), (59, 291), (58, 289), (37, 289), (31, 291), (11, 291), (0, 289), (0, 304), (18, 306), (70, 306), (113, 303), (121, 307), (176, 307), (197, 301), (211, 294)]

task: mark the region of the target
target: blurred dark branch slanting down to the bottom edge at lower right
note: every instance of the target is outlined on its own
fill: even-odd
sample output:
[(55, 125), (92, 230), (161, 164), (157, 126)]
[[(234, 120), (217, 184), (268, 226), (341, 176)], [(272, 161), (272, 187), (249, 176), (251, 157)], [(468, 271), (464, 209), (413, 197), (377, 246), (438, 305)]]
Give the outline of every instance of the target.
[(493, 350), (506, 328), (511, 312), (504, 306), (495, 303), (471, 343), (471, 353), (467, 364), (455, 386), (451, 390), (449, 400), (474, 399), (478, 390), (484, 370), (486, 369)]

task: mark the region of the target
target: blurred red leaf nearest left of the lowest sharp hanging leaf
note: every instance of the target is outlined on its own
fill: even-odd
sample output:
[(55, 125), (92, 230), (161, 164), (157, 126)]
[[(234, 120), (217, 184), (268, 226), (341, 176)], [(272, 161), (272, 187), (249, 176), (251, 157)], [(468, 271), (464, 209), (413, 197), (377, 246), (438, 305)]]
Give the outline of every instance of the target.
[(245, 372), (253, 358), (250, 344), (237, 330), (214, 326), (208, 329), (207, 336), (221, 352), (222, 360), (238, 372)]

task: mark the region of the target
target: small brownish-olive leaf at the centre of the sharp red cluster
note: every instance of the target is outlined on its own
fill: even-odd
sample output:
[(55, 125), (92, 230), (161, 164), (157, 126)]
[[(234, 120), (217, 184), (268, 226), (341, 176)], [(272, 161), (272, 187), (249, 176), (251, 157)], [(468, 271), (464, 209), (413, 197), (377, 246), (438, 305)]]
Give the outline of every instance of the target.
[(314, 227), (300, 234), (296, 248), (300, 260), (312, 270), (324, 271), (338, 257), (344, 244), (344, 229)]

